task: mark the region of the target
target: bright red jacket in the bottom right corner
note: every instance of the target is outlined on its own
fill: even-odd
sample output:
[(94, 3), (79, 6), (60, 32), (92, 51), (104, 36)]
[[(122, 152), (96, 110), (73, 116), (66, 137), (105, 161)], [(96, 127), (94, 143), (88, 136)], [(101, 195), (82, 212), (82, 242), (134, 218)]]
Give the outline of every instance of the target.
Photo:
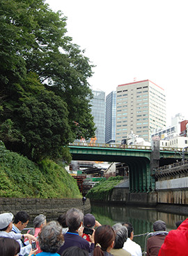
[(188, 218), (169, 232), (158, 256), (188, 256)]

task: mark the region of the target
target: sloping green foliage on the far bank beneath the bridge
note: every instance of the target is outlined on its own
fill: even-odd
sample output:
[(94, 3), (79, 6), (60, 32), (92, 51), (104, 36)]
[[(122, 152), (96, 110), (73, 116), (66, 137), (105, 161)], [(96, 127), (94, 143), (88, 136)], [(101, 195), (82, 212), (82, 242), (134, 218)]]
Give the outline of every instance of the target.
[(108, 180), (101, 180), (95, 187), (88, 191), (86, 197), (99, 201), (107, 201), (111, 196), (113, 187), (123, 180), (123, 176), (110, 177)]

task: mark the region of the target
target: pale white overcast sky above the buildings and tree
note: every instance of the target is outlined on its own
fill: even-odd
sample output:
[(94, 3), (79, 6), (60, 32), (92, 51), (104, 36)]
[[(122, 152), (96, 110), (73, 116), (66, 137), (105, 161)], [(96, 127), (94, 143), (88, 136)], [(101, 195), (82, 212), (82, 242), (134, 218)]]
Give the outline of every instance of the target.
[(188, 119), (187, 0), (46, 0), (68, 17), (68, 36), (86, 50), (88, 83), (109, 94), (134, 78), (151, 80), (166, 94), (166, 120)]

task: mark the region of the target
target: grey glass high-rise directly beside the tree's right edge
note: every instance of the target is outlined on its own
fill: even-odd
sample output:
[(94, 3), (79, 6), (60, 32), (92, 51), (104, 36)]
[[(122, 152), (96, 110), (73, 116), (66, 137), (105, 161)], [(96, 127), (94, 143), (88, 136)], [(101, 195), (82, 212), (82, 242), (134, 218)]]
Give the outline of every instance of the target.
[(105, 138), (105, 92), (93, 90), (91, 99), (91, 114), (95, 122), (95, 143), (104, 143)]

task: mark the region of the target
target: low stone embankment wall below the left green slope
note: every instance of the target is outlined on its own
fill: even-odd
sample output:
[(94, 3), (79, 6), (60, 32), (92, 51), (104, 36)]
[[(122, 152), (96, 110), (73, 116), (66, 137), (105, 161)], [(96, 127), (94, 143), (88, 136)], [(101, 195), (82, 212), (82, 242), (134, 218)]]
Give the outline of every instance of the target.
[(88, 213), (91, 204), (89, 199), (83, 205), (81, 199), (0, 198), (0, 213), (11, 212), (15, 215), (18, 211), (26, 211), (31, 218), (42, 213), (46, 215), (47, 219), (55, 220), (72, 207)]

